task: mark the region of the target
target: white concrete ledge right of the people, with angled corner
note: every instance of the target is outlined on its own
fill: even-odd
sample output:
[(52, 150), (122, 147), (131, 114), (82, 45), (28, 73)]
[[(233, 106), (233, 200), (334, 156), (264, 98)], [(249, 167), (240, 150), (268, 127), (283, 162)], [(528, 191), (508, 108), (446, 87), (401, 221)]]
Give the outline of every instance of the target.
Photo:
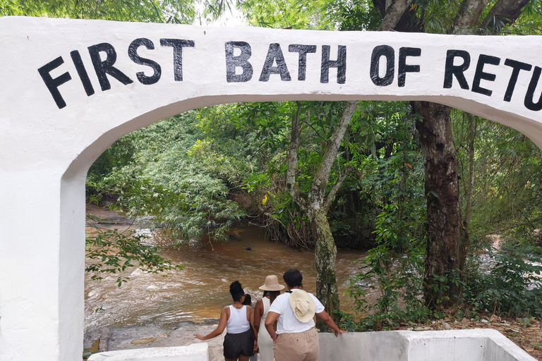
[(318, 361), (536, 361), (499, 331), (319, 334)]

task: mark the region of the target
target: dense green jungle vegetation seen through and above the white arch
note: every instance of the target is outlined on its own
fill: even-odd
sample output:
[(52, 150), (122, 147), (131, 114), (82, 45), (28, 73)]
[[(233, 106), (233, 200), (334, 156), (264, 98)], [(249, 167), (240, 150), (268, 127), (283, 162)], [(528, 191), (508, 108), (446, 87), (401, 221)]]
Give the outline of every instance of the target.
[[(4, 0), (0, 13), (191, 23), (236, 6), (265, 27), (542, 32), (540, 0), (217, 0), (200, 13), (194, 5)], [(315, 249), (318, 297), (336, 319), (382, 329), (450, 314), (542, 316), (541, 162), (526, 135), (440, 104), (223, 104), (122, 137), (90, 168), (87, 191), (155, 217), (178, 242), (203, 232), (223, 241), (235, 222), (263, 224), (275, 242)], [(121, 256), (141, 259), (138, 245), (121, 245)], [(349, 290), (361, 321), (339, 309), (335, 245), (369, 250)], [(142, 253), (151, 268), (172, 267), (156, 252)], [(366, 301), (367, 285), (380, 290), (376, 303)]]

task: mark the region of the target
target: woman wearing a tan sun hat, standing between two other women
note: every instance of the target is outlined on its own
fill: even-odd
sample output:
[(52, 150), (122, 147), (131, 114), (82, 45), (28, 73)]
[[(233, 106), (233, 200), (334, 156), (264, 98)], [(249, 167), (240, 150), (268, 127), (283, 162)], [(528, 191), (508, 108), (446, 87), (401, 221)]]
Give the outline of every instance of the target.
[(280, 290), (282, 289), (284, 289), (284, 286), (279, 284), (279, 279), (274, 274), (265, 277), (265, 283), (263, 286), (260, 286), (260, 290), (263, 290), (263, 297), (256, 302), (254, 327), (258, 331), (258, 347), (260, 348), (261, 361), (273, 361), (275, 358), (273, 341), (267, 329), (265, 329), (265, 318), (267, 317), (267, 312), (269, 312), (270, 305), (280, 295)]

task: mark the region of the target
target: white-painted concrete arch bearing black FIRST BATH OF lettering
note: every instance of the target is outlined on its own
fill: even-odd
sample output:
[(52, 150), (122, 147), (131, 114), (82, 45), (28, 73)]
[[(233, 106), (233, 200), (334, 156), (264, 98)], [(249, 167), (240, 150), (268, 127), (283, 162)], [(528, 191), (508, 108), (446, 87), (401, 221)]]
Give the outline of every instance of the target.
[[(137, 54), (155, 61), (162, 70), (152, 85), (136, 77), (138, 72), (150, 77), (152, 68), (128, 56), (130, 44), (138, 38), (150, 40), (154, 49), (138, 47)], [(174, 80), (174, 48), (161, 46), (160, 39), (194, 42), (194, 47), (182, 49), (182, 81)], [(524, 105), (531, 77), (542, 66), (540, 39), (0, 18), (0, 360), (80, 359), (85, 174), (122, 135), (188, 109), (226, 102), (419, 99), (498, 121), (522, 131), (540, 147), (542, 111)], [(227, 82), (227, 42), (250, 44), (250, 81)], [(104, 78), (111, 89), (100, 87), (89, 47), (104, 43), (116, 54), (112, 66), (130, 78), (130, 84), (109, 74)], [(282, 81), (278, 74), (259, 81), (270, 44), (282, 49), (290, 81)], [(315, 53), (306, 54), (306, 80), (298, 80), (299, 53), (290, 52), (290, 44), (316, 47)], [(329, 82), (320, 82), (323, 45), (330, 46), (331, 60), (337, 59), (339, 46), (346, 47), (343, 84), (337, 82), (336, 68), (330, 69)], [(381, 45), (395, 53), (395, 76), (387, 86), (375, 85), (370, 77), (371, 54)], [(420, 71), (407, 72), (404, 87), (399, 87), (402, 47), (420, 49), (420, 56), (407, 56), (405, 61), (407, 66), (419, 65)], [(471, 64), (464, 71), (469, 90), (462, 89), (457, 78), (452, 78), (451, 88), (443, 87), (450, 49), (469, 53)], [(94, 92), (90, 96), (72, 61), (72, 51), (78, 51), (73, 54), (80, 55), (88, 73)], [(105, 61), (105, 53), (98, 54), (97, 62)], [(486, 63), (478, 71), (479, 85), (490, 90), (490, 96), (479, 89), (471, 91), (480, 54), (493, 56), (500, 64)], [(503, 101), (513, 69), (505, 66), (506, 59), (530, 66), (529, 71), (519, 71), (510, 102)], [(57, 87), (66, 102), (62, 109), (38, 73), (55, 60), (58, 66), (45, 75), (56, 80), (66, 77), (65, 73), (71, 76)], [(462, 61), (456, 60), (454, 65), (459, 66)], [(490, 79), (493, 75), (495, 80)], [(540, 83), (531, 90), (534, 104), (541, 96)]]

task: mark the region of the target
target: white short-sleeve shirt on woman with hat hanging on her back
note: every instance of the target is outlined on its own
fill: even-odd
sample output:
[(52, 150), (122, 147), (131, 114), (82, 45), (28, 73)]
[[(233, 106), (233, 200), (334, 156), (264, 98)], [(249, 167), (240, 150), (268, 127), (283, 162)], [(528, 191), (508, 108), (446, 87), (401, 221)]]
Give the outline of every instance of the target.
[[(291, 290), (292, 292), (298, 291), (298, 288)], [(279, 314), (279, 319), (277, 320), (277, 334), (298, 334), (299, 332), (305, 332), (312, 329), (315, 326), (314, 320), (311, 319), (309, 322), (299, 322), (294, 315), (294, 310), (290, 306), (290, 295), (291, 293), (282, 293), (279, 295), (271, 306), (269, 307), (269, 312), (275, 312)], [(315, 298), (312, 293), (308, 293), (314, 301), (316, 306), (316, 313), (323, 312), (324, 306), (322, 302)]]

